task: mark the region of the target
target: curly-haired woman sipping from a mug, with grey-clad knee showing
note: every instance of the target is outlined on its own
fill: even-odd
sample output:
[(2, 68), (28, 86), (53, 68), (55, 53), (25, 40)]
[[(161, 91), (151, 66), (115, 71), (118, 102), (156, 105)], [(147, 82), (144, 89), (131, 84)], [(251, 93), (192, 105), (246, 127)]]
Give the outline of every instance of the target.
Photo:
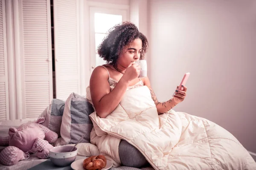
[[(90, 95), (99, 117), (112, 113), (127, 90), (143, 85), (149, 88), (158, 114), (185, 99), (187, 88), (183, 87), (181, 91), (175, 90), (172, 99), (159, 102), (148, 77), (138, 78), (140, 65), (135, 62), (144, 59), (147, 48), (147, 38), (130, 22), (114, 26), (99, 45), (98, 54), (108, 63), (96, 67), (90, 78)], [(124, 166), (140, 168), (147, 164), (140, 151), (124, 140), (119, 144), (119, 157)]]

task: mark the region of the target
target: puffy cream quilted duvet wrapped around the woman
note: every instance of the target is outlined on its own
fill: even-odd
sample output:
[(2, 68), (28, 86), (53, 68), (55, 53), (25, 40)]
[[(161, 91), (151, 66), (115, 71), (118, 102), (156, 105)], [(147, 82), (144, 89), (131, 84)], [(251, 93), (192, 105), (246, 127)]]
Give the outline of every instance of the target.
[(96, 112), (90, 118), (91, 143), (115, 167), (121, 164), (120, 139), (125, 139), (156, 170), (256, 170), (247, 150), (217, 124), (173, 110), (158, 115), (147, 86), (127, 91), (105, 119)]

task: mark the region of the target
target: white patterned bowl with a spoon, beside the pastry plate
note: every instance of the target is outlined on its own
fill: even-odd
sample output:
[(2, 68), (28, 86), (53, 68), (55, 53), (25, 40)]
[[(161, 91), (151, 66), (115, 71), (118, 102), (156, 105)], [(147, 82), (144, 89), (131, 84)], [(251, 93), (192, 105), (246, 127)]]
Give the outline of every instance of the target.
[(59, 167), (66, 167), (76, 159), (77, 148), (75, 147), (72, 152), (70, 150), (73, 146), (56, 146), (50, 149), (50, 160), (53, 164)]

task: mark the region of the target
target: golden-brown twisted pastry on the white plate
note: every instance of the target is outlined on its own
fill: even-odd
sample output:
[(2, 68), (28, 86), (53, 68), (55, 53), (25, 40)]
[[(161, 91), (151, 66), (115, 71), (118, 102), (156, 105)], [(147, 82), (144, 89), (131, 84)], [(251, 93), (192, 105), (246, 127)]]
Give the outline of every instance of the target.
[(90, 156), (83, 161), (83, 168), (85, 170), (101, 170), (107, 164), (107, 159), (103, 155)]

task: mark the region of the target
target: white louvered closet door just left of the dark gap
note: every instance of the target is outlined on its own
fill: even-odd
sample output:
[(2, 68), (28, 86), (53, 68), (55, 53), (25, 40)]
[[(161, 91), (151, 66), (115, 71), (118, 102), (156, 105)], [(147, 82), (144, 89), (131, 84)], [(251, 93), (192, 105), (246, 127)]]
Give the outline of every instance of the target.
[(50, 0), (22, 0), (23, 112), (38, 117), (52, 100)]

